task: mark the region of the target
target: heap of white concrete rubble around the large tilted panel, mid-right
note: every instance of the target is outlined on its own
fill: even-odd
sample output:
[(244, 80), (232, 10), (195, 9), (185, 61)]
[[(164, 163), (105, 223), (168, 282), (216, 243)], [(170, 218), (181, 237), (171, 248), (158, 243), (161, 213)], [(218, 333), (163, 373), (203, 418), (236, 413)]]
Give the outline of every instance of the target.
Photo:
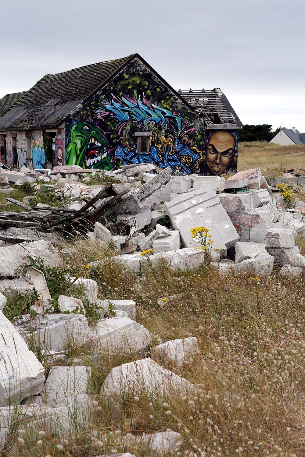
[[(273, 266), (283, 275), (301, 274), (305, 258), (294, 239), (305, 234), (305, 204), (297, 199), (293, 210), (285, 209), (278, 189), (268, 185), (261, 170), (241, 171), (225, 180), (182, 175), (170, 168), (156, 174), (153, 168), (126, 165), (107, 172), (122, 181), (139, 179), (135, 175), (146, 181), (125, 194), (104, 223), (96, 223), (94, 234), (88, 234), (123, 250), (113, 260), (131, 271), (144, 271), (147, 259), (141, 251), (152, 249), (153, 265), (164, 258), (174, 268), (196, 268), (203, 263), (204, 251), (192, 239), (191, 229), (204, 226), (213, 240), (212, 265), (222, 274), (254, 270), (265, 275)], [(286, 173), (283, 180), (291, 176)], [(136, 250), (125, 253), (127, 246)]]

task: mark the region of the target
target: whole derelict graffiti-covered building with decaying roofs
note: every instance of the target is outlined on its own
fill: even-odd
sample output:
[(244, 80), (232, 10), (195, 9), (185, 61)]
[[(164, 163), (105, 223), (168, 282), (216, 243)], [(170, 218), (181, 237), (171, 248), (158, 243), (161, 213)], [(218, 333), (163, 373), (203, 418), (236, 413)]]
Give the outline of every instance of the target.
[(219, 175), (237, 169), (241, 127), (220, 89), (174, 90), (133, 54), (46, 74), (1, 99), (1, 162), (105, 170), (148, 162)]

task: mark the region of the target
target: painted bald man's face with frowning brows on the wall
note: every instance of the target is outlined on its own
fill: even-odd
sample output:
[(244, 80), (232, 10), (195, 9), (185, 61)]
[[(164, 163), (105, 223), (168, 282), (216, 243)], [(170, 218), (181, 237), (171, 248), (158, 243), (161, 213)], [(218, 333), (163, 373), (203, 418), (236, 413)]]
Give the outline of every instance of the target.
[(213, 173), (223, 173), (233, 159), (236, 149), (236, 139), (233, 133), (218, 130), (209, 137), (206, 152), (206, 165)]

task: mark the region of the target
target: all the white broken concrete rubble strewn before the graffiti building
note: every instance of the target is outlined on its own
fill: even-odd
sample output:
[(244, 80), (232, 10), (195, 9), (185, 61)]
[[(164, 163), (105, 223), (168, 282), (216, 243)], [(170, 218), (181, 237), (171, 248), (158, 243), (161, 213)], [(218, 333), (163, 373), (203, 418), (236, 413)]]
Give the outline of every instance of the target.
[[(77, 180), (86, 172), (88, 170), (79, 167), (55, 167), (52, 174), (45, 178), (58, 182), (58, 191), (65, 195), (70, 192), (70, 197), (75, 199), (73, 204), (84, 207), (87, 203), (83, 197), (86, 196), (88, 202), (89, 192)], [(0, 178), (6, 176), (4, 181), (7, 181), (7, 186), (14, 184), (12, 181), (17, 178), (16, 175), (13, 179), (9, 173), (18, 174), (15, 184), (23, 179), (26, 180), (23, 182), (41, 180), (41, 175), (34, 176), (28, 170), (12, 172), (0, 169)], [(117, 194), (123, 195), (115, 205), (105, 207), (99, 221), (94, 224), (94, 231), (89, 231), (87, 236), (92, 242), (100, 244), (101, 249), (111, 245), (112, 251), (116, 252), (110, 261), (118, 262), (132, 272), (145, 273), (148, 260), (141, 253), (149, 249), (153, 250), (149, 256), (153, 266), (160, 259), (166, 259), (176, 269), (197, 268), (204, 261), (205, 251), (191, 237), (191, 229), (203, 226), (209, 229), (214, 242), (211, 264), (221, 274), (254, 271), (259, 276), (269, 275), (276, 267), (281, 275), (297, 276), (305, 267), (305, 257), (295, 245), (295, 238), (305, 234), (304, 204), (298, 201), (293, 210), (286, 210), (278, 189), (268, 185), (259, 169), (239, 172), (227, 180), (215, 176), (183, 175), (170, 168), (156, 170), (151, 164), (127, 165), (115, 172), (105, 173), (108, 178), (119, 181), (114, 182), (112, 187)], [(88, 188), (93, 198), (94, 189)], [(116, 193), (107, 199), (116, 198)], [(12, 404), (20, 405), (19, 414), (23, 414), (30, 424), (43, 422), (52, 433), (59, 433), (60, 429), (62, 436), (67, 431), (73, 434), (70, 421), (73, 408), (86, 422), (96, 406), (96, 399), (86, 394), (91, 369), (82, 359), (74, 359), (70, 366), (51, 367), (45, 379), (44, 367), (29, 350), (30, 345), (40, 347), (49, 363), (64, 360), (69, 352), (67, 344), (71, 342), (77, 346), (89, 346), (93, 358), (98, 357), (97, 352), (100, 351), (139, 355), (148, 351), (148, 357), (115, 367), (108, 374), (101, 394), (114, 403), (124, 401), (126, 395), (138, 395), (143, 388), (151, 398), (156, 394), (159, 398), (166, 398), (171, 388), (182, 396), (196, 391), (193, 384), (160, 364), (161, 361), (181, 367), (198, 350), (196, 338), (164, 343), (159, 338), (158, 344), (153, 346), (152, 341), (158, 337), (136, 322), (136, 303), (132, 300), (100, 300), (97, 282), (85, 277), (66, 277), (71, 296), (59, 296), (60, 312), (49, 314), (52, 297), (44, 274), (37, 268), (27, 268), (27, 264), (39, 258), (47, 266), (58, 266), (60, 255), (73, 255), (73, 248), (61, 249), (53, 234), (27, 228), (9, 228), (2, 236), (2, 446), (5, 443), (5, 427), (10, 427), (14, 417), (12, 409), (15, 406)], [(101, 262), (93, 262), (91, 266), (98, 267)], [(95, 325), (89, 324), (86, 319), (83, 300), (72, 296), (75, 287), (83, 291), (84, 300), (95, 303), (100, 310), (100, 319)], [(31, 291), (35, 291), (39, 298), (31, 307), (36, 318), (26, 314), (12, 324), (2, 312), (5, 306), (9, 306), (8, 299)], [(115, 310), (114, 316), (109, 317), (109, 307)], [(129, 435), (128, 439), (133, 443), (140, 439)], [(162, 454), (177, 449), (182, 436), (167, 431), (143, 436), (141, 440)], [(128, 450), (127, 441), (125, 445)]]

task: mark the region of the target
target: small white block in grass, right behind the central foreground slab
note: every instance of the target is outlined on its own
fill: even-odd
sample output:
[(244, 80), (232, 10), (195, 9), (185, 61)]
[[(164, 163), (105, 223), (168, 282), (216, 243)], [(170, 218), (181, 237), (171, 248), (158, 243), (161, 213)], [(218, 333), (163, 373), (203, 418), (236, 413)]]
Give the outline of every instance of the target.
[(152, 348), (151, 354), (157, 361), (160, 357), (163, 362), (173, 363), (180, 368), (196, 349), (198, 349), (197, 338), (189, 337), (161, 343)]

